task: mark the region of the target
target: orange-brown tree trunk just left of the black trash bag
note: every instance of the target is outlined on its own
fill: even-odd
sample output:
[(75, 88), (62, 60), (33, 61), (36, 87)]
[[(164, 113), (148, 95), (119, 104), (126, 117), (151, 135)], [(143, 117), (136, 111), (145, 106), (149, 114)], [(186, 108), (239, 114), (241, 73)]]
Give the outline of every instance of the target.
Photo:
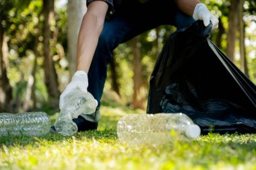
[(133, 52), (133, 107), (135, 109), (145, 109), (145, 97), (141, 75), (141, 52), (139, 49), (139, 36), (131, 40)]

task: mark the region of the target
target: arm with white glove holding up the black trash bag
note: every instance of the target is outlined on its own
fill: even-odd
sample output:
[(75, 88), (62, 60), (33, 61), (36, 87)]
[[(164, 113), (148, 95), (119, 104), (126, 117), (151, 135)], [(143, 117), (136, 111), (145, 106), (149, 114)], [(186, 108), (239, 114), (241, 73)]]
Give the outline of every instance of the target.
[(199, 0), (174, 0), (177, 7), (187, 15), (193, 16), (195, 20), (202, 20), (204, 26), (208, 26), (212, 22), (212, 30), (218, 28), (219, 20), (207, 9), (207, 7), (200, 3)]

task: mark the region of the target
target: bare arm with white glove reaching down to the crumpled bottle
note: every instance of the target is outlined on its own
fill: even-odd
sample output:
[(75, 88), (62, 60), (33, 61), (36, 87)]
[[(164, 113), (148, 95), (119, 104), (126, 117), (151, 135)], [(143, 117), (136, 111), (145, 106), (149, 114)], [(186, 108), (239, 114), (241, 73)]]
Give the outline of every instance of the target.
[(108, 3), (104, 1), (92, 1), (83, 17), (77, 40), (76, 71), (71, 82), (65, 87), (59, 99), (59, 108), (65, 103), (65, 96), (76, 89), (87, 93), (88, 71), (94, 56), (98, 38), (102, 32), (104, 19), (108, 10)]

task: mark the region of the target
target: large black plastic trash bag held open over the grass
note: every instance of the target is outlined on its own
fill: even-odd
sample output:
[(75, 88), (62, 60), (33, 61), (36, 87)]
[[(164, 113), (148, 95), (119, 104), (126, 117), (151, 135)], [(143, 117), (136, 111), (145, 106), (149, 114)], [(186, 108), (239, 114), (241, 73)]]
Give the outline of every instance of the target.
[(256, 86), (208, 38), (197, 21), (170, 35), (152, 76), (148, 114), (187, 114), (202, 134), (255, 133)]

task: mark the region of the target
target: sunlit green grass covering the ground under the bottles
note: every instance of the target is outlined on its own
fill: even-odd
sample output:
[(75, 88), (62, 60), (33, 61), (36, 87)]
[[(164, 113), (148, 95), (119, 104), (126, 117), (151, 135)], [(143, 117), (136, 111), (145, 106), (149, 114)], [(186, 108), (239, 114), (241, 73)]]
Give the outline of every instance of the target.
[[(0, 169), (256, 169), (256, 134), (128, 146), (117, 138), (117, 121), (142, 112), (110, 105), (101, 112), (98, 130), (74, 136), (0, 137)], [(54, 122), (56, 114), (51, 118)]]

